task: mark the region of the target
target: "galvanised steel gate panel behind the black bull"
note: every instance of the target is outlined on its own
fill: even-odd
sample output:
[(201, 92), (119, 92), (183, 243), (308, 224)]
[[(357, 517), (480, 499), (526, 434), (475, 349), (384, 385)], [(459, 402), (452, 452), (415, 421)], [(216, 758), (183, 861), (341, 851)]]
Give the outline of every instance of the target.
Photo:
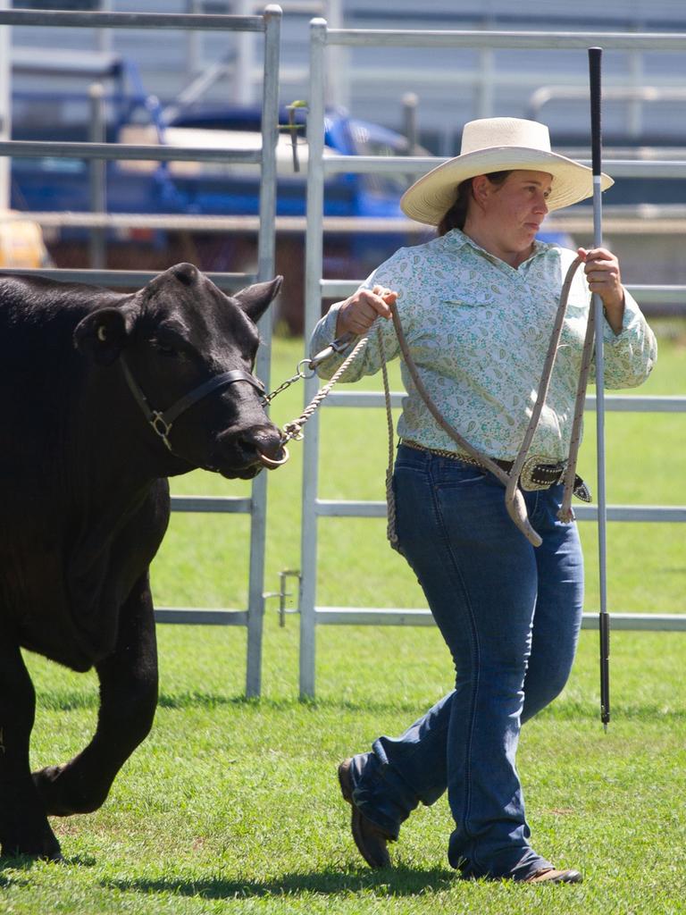
[[(108, 143), (0, 142), (0, 156), (55, 156), (80, 159), (142, 159), (157, 161), (197, 161), (252, 163), (262, 167), (260, 189), (260, 229), (256, 274), (208, 274), (225, 291), (242, 285), (269, 280), (274, 269), (274, 217), (276, 205), (276, 143), (278, 138), (278, 85), (281, 35), (281, 7), (269, 5), (262, 16), (205, 16), (156, 13), (80, 13), (43, 12), (38, 10), (1, 10), (2, 26), (52, 26), (83, 28), (136, 28), (151, 31), (196, 29), (202, 31), (256, 32), (264, 36), (262, 148), (235, 152), (220, 149), (196, 149), (161, 145), (123, 145)], [(188, 222), (188, 220), (187, 220)], [(6, 271), (38, 273), (54, 279), (138, 287), (155, 274), (142, 271), (108, 270), (38, 270)], [(263, 347), (257, 357), (256, 372), (269, 386), (271, 323), (260, 322)], [(251, 516), (248, 607), (245, 610), (160, 608), (155, 611), (159, 622), (213, 623), (245, 626), (248, 633), (245, 692), (259, 695), (262, 681), (263, 579), (266, 524), (267, 474), (259, 474), (252, 483), (252, 495), (241, 498), (183, 497), (172, 499), (173, 511), (244, 512)]]

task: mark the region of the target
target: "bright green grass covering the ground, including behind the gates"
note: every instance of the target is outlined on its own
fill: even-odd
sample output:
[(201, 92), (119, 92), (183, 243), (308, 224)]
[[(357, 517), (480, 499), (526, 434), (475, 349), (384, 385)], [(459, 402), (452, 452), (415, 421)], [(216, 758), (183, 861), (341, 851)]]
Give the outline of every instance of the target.
[[(291, 374), (300, 355), (299, 342), (279, 341), (273, 379)], [(679, 338), (662, 342), (642, 391), (684, 393), (685, 361)], [(301, 398), (299, 390), (284, 393), (277, 420), (295, 416)], [(609, 500), (683, 502), (683, 416), (607, 418)], [(322, 495), (381, 499), (381, 415), (328, 410), (322, 425)], [(584, 471), (593, 463), (592, 425)], [(267, 589), (280, 569), (299, 565), (301, 450), (294, 443), (292, 462), (270, 478)], [(174, 491), (249, 490), (194, 474), (176, 480)], [(583, 527), (594, 608), (592, 525)], [(381, 522), (331, 520), (321, 529), (321, 603), (423, 606)], [(611, 524), (608, 532), (610, 609), (683, 612), (683, 526)], [(245, 533), (238, 516), (175, 515), (155, 560), (157, 603), (244, 606)], [(613, 633), (606, 734), (597, 715), (597, 636), (582, 634), (563, 695), (523, 731), (519, 766), (535, 847), (561, 866), (580, 867), (585, 882), (527, 888), (456, 880), (445, 856), (445, 799), (402, 827), (392, 871), (371, 872), (352, 844), (336, 765), (380, 733), (402, 731), (450, 688), (451, 664), (435, 630), (323, 627), (310, 703), (296, 699), (296, 619), (279, 628), (275, 602), (259, 702), (241, 698), (243, 630), (160, 626), (158, 633), (152, 735), (100, 811), (53, 819), (65, 866), (0, 866), (0, 913), (686, 912), (686, 634)], [(32, 764), (39, 767), (88, 740), (98, 692), (91, 674), (34, 655), (27, 662), (38, 693)]]

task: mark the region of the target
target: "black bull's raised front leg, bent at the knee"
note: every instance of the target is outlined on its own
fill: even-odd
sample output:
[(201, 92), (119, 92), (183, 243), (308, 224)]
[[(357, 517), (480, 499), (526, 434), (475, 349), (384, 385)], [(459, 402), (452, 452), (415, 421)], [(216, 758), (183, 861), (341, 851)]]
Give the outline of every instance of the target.
[(96, 665), (101, 705), (91, 743), (61, 766), (34, 773), (46, 811), (91, 813), (102, 805), (123, 763), (150, 732), (157, 704), (155, 620), (148, 576), (122, 608), (117, 646)]

